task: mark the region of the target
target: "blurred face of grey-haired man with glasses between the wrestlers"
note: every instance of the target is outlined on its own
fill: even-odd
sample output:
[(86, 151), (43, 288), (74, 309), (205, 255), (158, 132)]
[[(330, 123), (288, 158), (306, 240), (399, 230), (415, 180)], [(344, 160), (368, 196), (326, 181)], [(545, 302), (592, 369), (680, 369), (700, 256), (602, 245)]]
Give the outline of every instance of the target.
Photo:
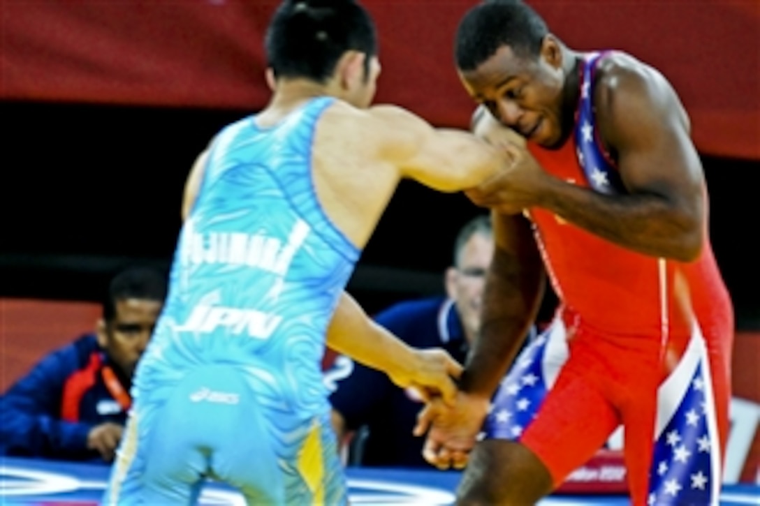
[(458, 265), (446, 271), (446, 292), (454, 300), (470, 343), (480, 330), (483, 287), (492, 258), (493, 238), (477, 232), (464, 244)]

